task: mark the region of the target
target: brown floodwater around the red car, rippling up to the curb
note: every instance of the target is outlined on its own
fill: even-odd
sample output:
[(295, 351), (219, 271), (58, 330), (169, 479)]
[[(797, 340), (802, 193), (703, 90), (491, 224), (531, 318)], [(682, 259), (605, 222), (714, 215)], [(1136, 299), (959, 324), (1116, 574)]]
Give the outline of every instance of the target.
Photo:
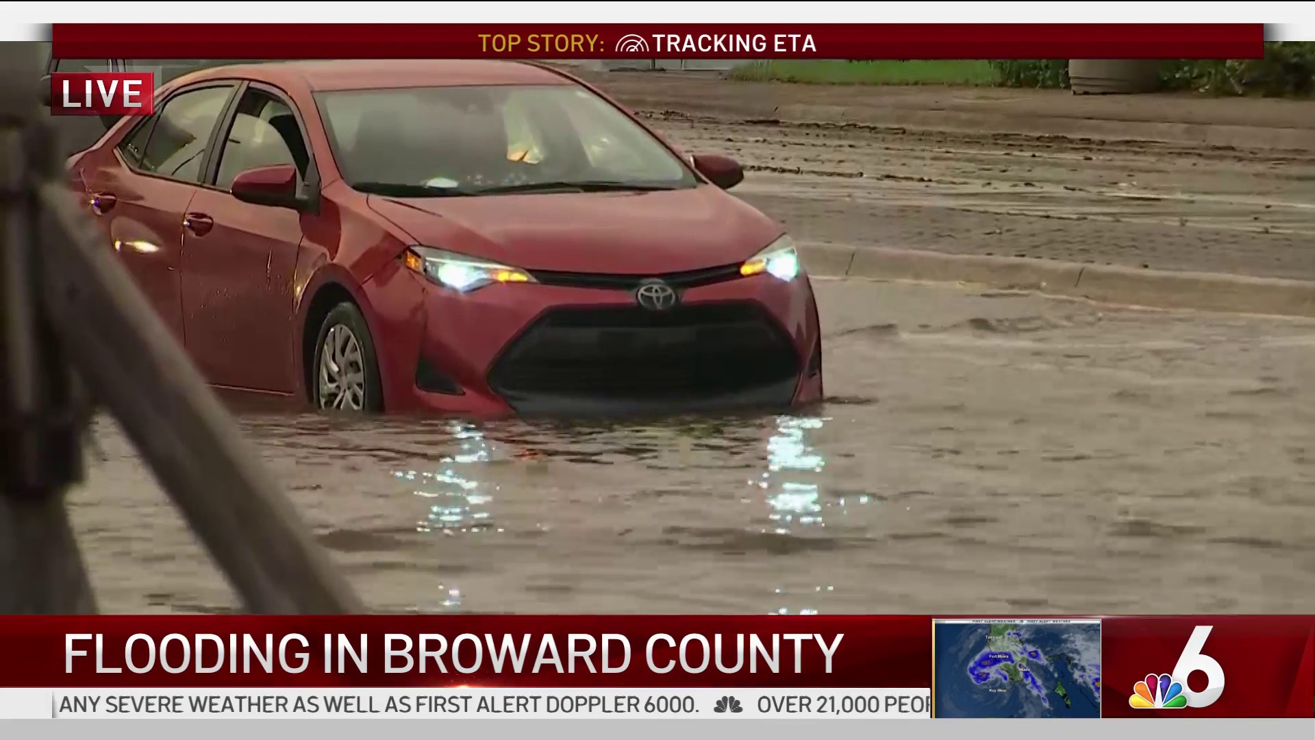
[[(817, 290), (832, 400), (797, 415), (242, 424), (380, 611), (1315, 611), (1315, 321)], [(96, 440), (101, 608), (233, 608)]]

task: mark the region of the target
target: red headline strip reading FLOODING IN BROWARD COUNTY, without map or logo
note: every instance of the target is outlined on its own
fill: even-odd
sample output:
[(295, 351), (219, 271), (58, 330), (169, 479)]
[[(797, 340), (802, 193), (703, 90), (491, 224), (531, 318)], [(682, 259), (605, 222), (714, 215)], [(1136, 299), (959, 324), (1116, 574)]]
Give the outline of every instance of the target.
[(0, 686), (924, 687), (919, 616), (0, 618)]

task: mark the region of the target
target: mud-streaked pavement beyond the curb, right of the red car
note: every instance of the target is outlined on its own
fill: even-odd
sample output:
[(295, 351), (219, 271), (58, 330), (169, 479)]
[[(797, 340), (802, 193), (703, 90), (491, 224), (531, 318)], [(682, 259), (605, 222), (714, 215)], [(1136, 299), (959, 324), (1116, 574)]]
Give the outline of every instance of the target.
[(805, 241), (1315, 279), (1312, 151), (643, 115)]

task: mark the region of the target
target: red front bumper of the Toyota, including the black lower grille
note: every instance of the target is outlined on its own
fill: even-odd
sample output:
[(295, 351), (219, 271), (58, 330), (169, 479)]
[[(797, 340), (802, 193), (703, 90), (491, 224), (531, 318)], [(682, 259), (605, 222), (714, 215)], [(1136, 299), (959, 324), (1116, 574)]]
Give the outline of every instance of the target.
[(822, 398), (806, 275), (690, 280), (669, 311), (606, 280), (459, 294), (410, 278), (421, 304), (381, 348), (389, 411), (652, 415)]

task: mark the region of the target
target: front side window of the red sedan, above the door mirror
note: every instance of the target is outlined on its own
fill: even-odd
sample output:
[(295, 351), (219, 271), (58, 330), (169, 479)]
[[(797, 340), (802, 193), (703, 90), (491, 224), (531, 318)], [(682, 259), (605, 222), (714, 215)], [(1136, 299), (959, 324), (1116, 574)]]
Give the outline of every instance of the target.
[(274, 165), (292, 165), (305, 180), (310, 154), (292, 108), (267, 92), (249, 90), (224, 140), (214, 184), (227, 190), (239, 172)]

